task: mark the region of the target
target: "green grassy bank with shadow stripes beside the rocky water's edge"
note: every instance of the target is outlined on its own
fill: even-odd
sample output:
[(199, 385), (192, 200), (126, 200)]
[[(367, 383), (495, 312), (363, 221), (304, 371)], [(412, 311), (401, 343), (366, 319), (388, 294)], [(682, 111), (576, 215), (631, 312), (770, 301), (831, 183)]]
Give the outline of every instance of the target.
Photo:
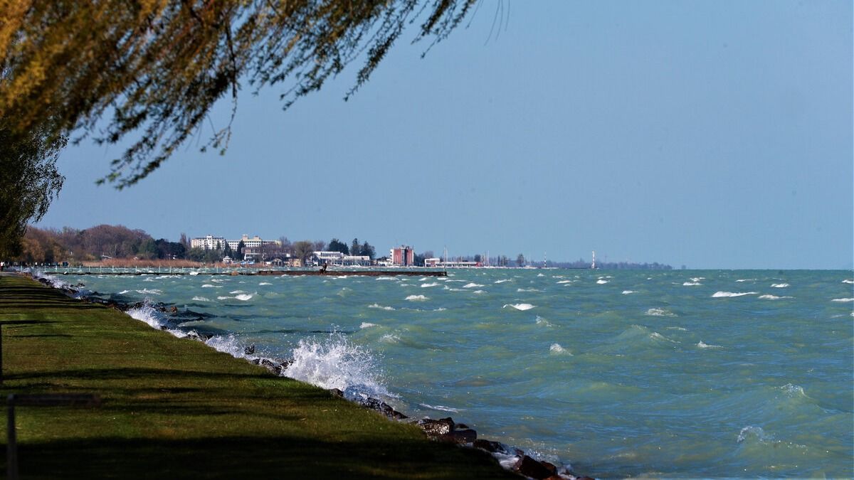
[(103, 399), (17, 408), (22, 478), (514, 477), (486, 454), (26, 278), (0, 277), (0, 323), (3, 399)]

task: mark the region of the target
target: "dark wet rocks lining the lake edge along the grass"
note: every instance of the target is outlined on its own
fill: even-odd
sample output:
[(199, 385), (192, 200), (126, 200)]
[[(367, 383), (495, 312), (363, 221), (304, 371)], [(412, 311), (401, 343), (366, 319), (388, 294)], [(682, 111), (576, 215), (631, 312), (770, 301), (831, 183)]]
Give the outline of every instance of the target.
[[(114, 308), (122, 313), (128, 313), (135, 308), (145, 306), (145, 303), (142, 301), (126, 303), (114, 300), (104, 300), (96, 296), (98, 295), (97, 292), (92, 292), (90, 295), (83, 295), (80, 293), (80, 290), (77, 289), (84, 287), (84, 284), (69, 285), (63, 282), (55, 282), (50, 278), (45, 278), (39, 275), (30, 276), (38, 280), (38, 282), (48, 285), (51, 288), (61, 290), (67, 296), (71, 296), (79, 301), (97, 303), (105, 307)], [(156, 303), (153, 304), (152, 307), (161, 313), (165, 313), (167, 316), (182, 315), (182, 317), (184, 317), (182, 319), (186, 319), (187, 316), (195, 317), (196, 319), (206, 318), (206, 315), (203, 313), (192, 312), (190, 310), (180, 312), (178, 307), (166, 303)], [(161, 325), (161, 330), (167, 331), (168, 328), (165, 325)], [(185, 337), (193, 341), (207, 342), (213, 337), (213, 335), (204, 333), (200, 334), (197, 331), (188, 331), (186, 332)], [(246, 355), (253, 355), (254, 350), (254, 345), (250, 345), (249, 347), (244, 348), (243, 353)], [(278, 377), (286, 377), (287, 368), (291, 363), (293, 363), (293, 360), (278, 361), (264, 357), (254, 357), (252, 359), (244, 357), (244, 359), (254, 363), (255, 365), (265, 367), (269, 372)], [(389, 420), (415, 424), (424, 431), (426, 436), (436, 442), (448, 442), (464, 448), (479, 448), (484, 450), (489, 454), (492, 454), (501, 466), (507, 470), (517, 472), (524, 477), (535, 478), (537, 480), (593, 480), (591, 477), (579, 475), (576, 472), (571, 471), (569, 466), (564, 465), (559, 467), (545, 460), (536, 460), (519, 448), (513, 448), (501, 442), (478, 438), (476, 430), (469, 428), (466, 424), (456, 423), (450, 417), (444, 419), (430, 419), (426, 417), (423, 419), (411, 419), (406, 414), (395, 410), (395, 408), (391, 407), (386, 402), (373, 398), (369, 395), (358, 392), (345, 392), (341, 389), (330, 389), (329, 392), (330, 395), (334, 395), (348, 401), (353, 401), (362, 407), (381, 413)]]

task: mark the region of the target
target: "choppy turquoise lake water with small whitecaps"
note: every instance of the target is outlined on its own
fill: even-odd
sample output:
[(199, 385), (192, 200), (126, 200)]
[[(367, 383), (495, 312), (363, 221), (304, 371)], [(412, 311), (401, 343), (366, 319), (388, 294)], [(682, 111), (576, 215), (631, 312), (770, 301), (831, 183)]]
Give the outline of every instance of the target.
[(597, 477), (851, 477), (851, 272), (73, 276), (137, 319)]

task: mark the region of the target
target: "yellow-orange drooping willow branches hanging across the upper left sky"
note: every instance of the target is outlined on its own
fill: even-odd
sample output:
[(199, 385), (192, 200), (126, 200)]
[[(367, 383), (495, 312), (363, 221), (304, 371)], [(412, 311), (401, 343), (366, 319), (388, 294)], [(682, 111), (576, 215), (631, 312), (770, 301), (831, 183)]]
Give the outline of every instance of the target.
[[(225, 149), (238, 91), (278, 85), (283, 108), (352, 61), (352, 95), (405, 27), (424, 52), (477, 0), (0, 0), (0, 119), (47, 139), (130, 141), (100, 181), (154, 171), (231, 99), (202, 150)], [(346, 97), (345, 97), (346, 98)]]

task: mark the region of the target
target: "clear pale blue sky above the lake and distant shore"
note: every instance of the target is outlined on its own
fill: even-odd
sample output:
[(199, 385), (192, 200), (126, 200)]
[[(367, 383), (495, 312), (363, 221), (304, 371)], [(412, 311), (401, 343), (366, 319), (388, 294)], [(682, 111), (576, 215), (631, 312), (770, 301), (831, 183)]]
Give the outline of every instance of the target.
[(120, 145), (69, 147), (37, 226), (854, 267), (850, 1), (498, 5), (424, 58), (410, 29), (348, 102), (360, 64), (286, 112), (243, 89), (225, 155), (202, 131), (126, 190), (94, 184)]

